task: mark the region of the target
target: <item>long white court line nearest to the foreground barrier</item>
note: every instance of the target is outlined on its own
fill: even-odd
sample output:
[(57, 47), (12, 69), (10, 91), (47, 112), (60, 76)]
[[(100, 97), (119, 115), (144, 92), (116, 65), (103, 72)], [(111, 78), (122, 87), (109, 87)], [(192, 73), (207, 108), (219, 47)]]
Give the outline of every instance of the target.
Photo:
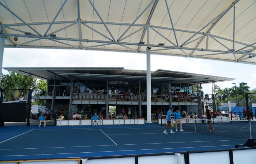
[[(205, 146), (205, 147), (224, 147), (234, 145), (219, 145), (219, 146)], [(204, 147), (182, 147), (182, 148), (204, 148)], [(104, 152), (124, 152), (124, 151), (145, 151), (145, 150), (164, 150), (164, 149), (182, 149), (182, 148), (161, 148), (161, 149), (137, 149), (137, 150), (118, 150), (118, 151), (102, 151), (102, 152), (77, 152), (77, 153), (54, 153), (54, 154), (33, 154), (33, 155), (8, 155), (8, 156), (41, 156), (41, 155), (60, 155), (60, 154), (82, 154), (82, 153), (104, 153)], [(0, 157), (8, 157), (0, 156)]]

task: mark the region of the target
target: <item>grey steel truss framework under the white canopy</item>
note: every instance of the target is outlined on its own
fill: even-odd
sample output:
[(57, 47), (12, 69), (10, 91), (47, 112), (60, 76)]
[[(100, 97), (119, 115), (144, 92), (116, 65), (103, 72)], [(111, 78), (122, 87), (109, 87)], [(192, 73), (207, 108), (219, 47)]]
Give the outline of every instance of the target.
[[(97, 13), (97, 15), (98, 15), (99, 19), (101, 20), (101, 22), (81, 20), (79, 0), (77, 0), (77, 4), (78, 4), (77, 5), (77, 11), (78, 11), (78, 18), (77, 18), (77, 20), (74, 20), (74, 21), (60, 21), (60, 22), (56, 22), (55, 21), (56, 17), (59, 15), (61, 9), (63, 8), (65, 3), (67, 2), (67, 0), (65, 0), (63, 2), (63, 4), (61, 5), (60, 9), (57, 11), (56, 16), (53, 18), (52, 22), (36, 22), (36, 23), (26, 23), (22, 18), (20, 18), (18, 15), (16, 15), (13, 11), (11, 11), (8, 7), (6, 7), (3, 3), (0, 2), (1, 6), (3, 6), (5, 9), (7, 9), (8, 12), (11, 12), (12, 15), (14, 15), (16, 18), (18, 18), (21, 22), (23, 22), (23, 23), (16, 23), (16, 24), (0, 24), (0, 27), (2, 29), (1, 30), (1, 34), (0, 34), (1, 37), (6, 38), (8, 43), (10, 43), (10, 45), (5, 45), (5, 47), (16, 47), (16, 48), (63, 48), (63, 49), (104, 50), (104, 49), (99, 49), (97, 47), (105, 46), (105, 45), (110, 45), (110, 44), (118, 44), (120, 46), (123, 46), (123, 47), (127, 48), (127, 50), (119, 50), (121, 52), (142, 52), (142, 53), (145, 53), (146, 51), (141, 51), (141, 46), (146, 46), (146, 47), (157, 47), (156, 50), (151, 50), (151, 51), (153, 51), (152, 54), (175, 55), (175, 56), (185, 56), (185, 57), (193, 57), (193, 58), (202, 58), (202, 57), (204, 57), (204, 59), (207, 59), (207, 56), (210, 56), (210, 55), (233, 54), (235, 59), (236, 59), (236, 61), (234, 61), (234, 60), (227, 60), (227, 59), (216, 59), (216, 58), (210, 58), (210, 59), (224, 60), (224, 61), (230, 61), (230, 62), (240, 62), (240, 63), (249, 63), (249, 62), (243, 62), (243, 60), (244, 59), (248, 59), (248, 57), (252, 58), (252, 57), (256, 56), (255, 53), (252, 53), (253, 51), (256, 50), (256, 45), (255, 45), (256, 43), (247, 44), (247, 43), (236, 41), (235, 40), (235, 36), (234, 36), (234, 30), (235, 30), (234, 28), (233, 28), (233, 39), (223, 38), (221, 36), (210, 34), (211, 29), (214, 28), (214, 26), (219, 22), (219, 20), (221, 20), (221, 18), (232, 8), (234, 8), (234, 20), (235, 20), (235, 4), (238, 3), (239, 0), (234, 1), (227, 9), (225, 9), (217, 17), (212, 19), (209, 23), (207, 23), (199, 31), (189, 31), (189, 30), (182, 30), (182, 29), (174, 28), (173, 27), (173, 22), (172, 22), (172, 17), (171, 17), (169, 8), (168, 8), (167, 0), (165, 0), (165, 3), (166, 3), (166, 7), (167, 7), (167, 11), (168, 11), (168, 16), (169, 16), (169, 19), (170, 19), (171, 27), (154, 26), (154, 25), (150, 24), (151, 17), (154, 14), (155, 8), (156, 8), (159, 0), (151, 0), (150, 3), (147, 5), (147, 7), (144, 8), (144, 10), (137, 16), (137, 18), (132, 23), (104, 22), (102, 17), (101, 17), (101, 15), (99, 15), (97, 9), (95, 8), (93, 3), (91, 2), (91, 0), (88, 0), (88, 1), (90, 2), (90, 4), (93, 7), (94, 11)], [(139, 17), (141, 15), (143, 15), (143, 13), (151, 6), (151, 4), (153, 4), (153, 8), (151, 9), (150, 15), (148, 16), (147, 23), (146, 24), (136, 24), (136, 20), (138, 20)], [(233, 23), (235, 24), (234, 21), (233, 21)], [(69, 25), (65, 26), (63, 28), (60, 28), (59, 30), (56, 30), (56, 31), (51, 32), (51, 33), (48, 34), (48, 32), (50, 30), (50, 27), (53, 24), (69, 24)], [(71, 26), (74, 26), (75, 24), (78, 24), (79, 39), (77, 39), (77, 38), (59, 38), (59, 37), (52, 36), (52, 34), (55, 34), (56, 32), (59, 32), (61, 30), (64, 30), (64, 29), (69, 28)], [(106, 30), (108, 31), (109, 35), (111, 36), (111, 38), (109, 38), (105, 34), (102, 34), (99, 31), (95, 30), (94, 28), (90, 27), (89, 26), (90, 24), (103, 24), (105, 26)], [(45, 33), (42, 35), (42, 34), (40, 34), (38, 31), (36, 31), (32, 27), (33, 25), (49, 25), (49, 26), (48, 26), (47, 30), (45, 31)], [(82, 37), (82, 30), (81, 30), (81, 26), (82, 25), (87, 27), (87, 28), (90, 28), (94, 32), (97, 32), (98, 34), (102, 35), (105, 39), (104, 40), (84, 39), (84, 38), (86, 38), (86, 36)], [(112, 33), (111, 33), (111, 31), (107, 27), (107, 25), (127, 26), (127, 29), (118, 38), (114, 38)], [(206, 29), (206, 27), (208, 27), (209, 25), (211, 25), (210, 28)], [(17, 30), (15, 28), (12, 28), (12, 27), (15, 27), (15, 26), (27, 26), (31, 30), (33, 30), (33, 32), (35, 32), (35, 34), (33, 34), (31, 32)], [(135, 32), (132, 32), (131, 34), (127, 34), (127, 31), (129, 30), (129, 28), (135, 27), (135, 26), (141, 27), (141, 28), (139, 30), (135, 31)], [(20, 35), (18, 35), (18, 34), (9, 34), (9, 33), (7, 33), (5, 31), (5, 29), (15, 30), (15, 31), (21, 32), (23, 34), (20, 34)], [(164, 45), (150, 44), (149, 39), (147, 40), (146, 44), (139, 43), (139, 42), (138, 43), (122, 42), (122, 40), (124, 40), (125, 38), (128, 38), (129, 36), (132, 36), (133, 34), (143, 30), (143, 34), (141, 36), (141, 39), (138, 40), (138, 41), (142, 42), (146, 33), (147, 33), (147, 35), (150, 35), (150, 34), (148, 34), (150, 32), (149, 29), (152, 29), (157, 34), (159, 34), (160, 36), (165, 38), (165, 40), (167, 42), (170, 42), (173, 46), (164, 46)], [(173, 31), (176, 43), (173, 43), (171, 40), (169, 40), (164, 35), (162, 35), (160, 32), (158, 32), (159, 29)], [(176, 37), (176, 33), (175, 33), (176, 31), (180, 31), (180, 32), (184, 32), (184, 33), (191, 33), (193, 35), (190, 38), (188, 38), (184, 43), (180, 43), (180, 46), (178, 46), (179, 43), (178, 43), (178, 40), (177, 40), (177, 37)], [(202, 32), (202, 31), (206, 31), (206, 32)], [(26, 33), (26, 35), (25, 35), (25, 33)], [(10, 39), (10, 37), (15, 37), (15, 36), (16, 37), (23, 37), (23, 38), (34, 38), (34, 40), (31, 40), (29, 42), (24, 42), (22, 44), (16, 45), (16, 44), (12, 43), (12, 41)], [(208, 49), (208, 39), (209, 39), (209, 37), (214, 39), (216, 42), (218, 42), (220, 44), (220, 46), (223, 46), (223, 47), (227, 48), (227, 50)], [(35, 41), (41, 40), (41, 39), (52, 40), (54, 42), (58, 42), (58, 43), (64, 44), (64, 45), (66, 45), (68, 47), (61, 47), (61, 46), (26, 46), (25, 45), (25, 44), (28, 44), (28, 43), (31, 43), (31, 42), (35, 42)], [(203, 41), (203, 39), (206, 39), (206, 48), (198, 48), (199, 44)], [(233, 42), (233, 47), (226, 46), (225, 44), (221, 43), (219, 41), (219, 39), (225, 40), (227, 42)], [(79, 46), (67, 44), (67, 43), (64, 43), (62, 41), (76, 41), (76, 42), (79, 43)], [(95, 45), (95, 46), (89, 46), (89, 47), (82, 47), (81, 42), (92, 42), (92, 43), (102, 43), (102, 44)], [(189, 47), (189, 44), (193, 43), (193, 42), (197, 42), (196, 46), (195, 47)], [(244, 47), (240, 48), (239, 50), (234, 50), (234, 44), (235, 43), (241, 44)], [(127, 47), (129, 45), (138, 46), (138, 49), (135, 50), (135, 49), (132, 49), (130, 47)], [(244, 49), (248, 48), (248, 47), (251, 48), (251, 49), (246, 49), (246, 51), (245, 51)], [(155, 51), (160, 51), (160, 50), (172, 50), (172, 49), (179, 49), (185, 55), (183, 55), (183, 54), (167, 54), (167, 53), (164, 53), (164, 52), (155, 52)], [(192, 50), (192, 52), (190, 54), (188, 54), (184, 50)], [(108, 51), (118, 51), (118, 50), (108, 50)], [(210, 54), (193, 55), (193, 53), (195, 51), (205, 51), (205, 52), (210, 52)], [(242, 55), (242, 57), (237, 59), (236, 58), (237, 54)], [(253, 64), (253, 63), (251, 63), (251, 64)]]

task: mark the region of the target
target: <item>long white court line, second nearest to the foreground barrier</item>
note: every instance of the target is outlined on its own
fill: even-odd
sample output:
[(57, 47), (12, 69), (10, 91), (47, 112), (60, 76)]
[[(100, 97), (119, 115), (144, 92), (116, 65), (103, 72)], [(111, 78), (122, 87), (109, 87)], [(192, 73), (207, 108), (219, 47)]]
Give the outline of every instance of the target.
[[(241, 140), (216, 140), (216, 141), (187, 141), (187, 142), (160, 142), (160, 143), (145, 143), (145, 144), (121, 144), (125, 145), (151, 145), (151, 144), (175, 144), (175, 143), (189, 143), (189, 142), (219, 142), (219, 141), (241, 141)], [(54, 148), (80, 148), (80, 147), (102, 147), (102, 146), (116, 146), (116, 145), (95, 145), (95, 146), (76, 146), (76, 147), (48, 147), (48, 148), (15, 148), (15, 149), (0, 149), (0, 150), (20, 150), (20, 149), (54, 149)], [(120, 146), (120, 145), (118, 145)]]

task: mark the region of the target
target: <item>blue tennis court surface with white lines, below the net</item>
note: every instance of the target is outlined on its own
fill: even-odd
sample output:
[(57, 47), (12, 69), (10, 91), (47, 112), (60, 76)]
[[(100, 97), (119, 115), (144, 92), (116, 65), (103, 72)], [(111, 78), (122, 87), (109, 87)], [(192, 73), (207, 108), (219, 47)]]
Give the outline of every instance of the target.
[(183, 126), (184, 132), (172, 134), (169, 129), (163, 134), (165, 127), (158, 124), (1, 127), (0, 160), (199, 151), (245, 143), (185, 130)]

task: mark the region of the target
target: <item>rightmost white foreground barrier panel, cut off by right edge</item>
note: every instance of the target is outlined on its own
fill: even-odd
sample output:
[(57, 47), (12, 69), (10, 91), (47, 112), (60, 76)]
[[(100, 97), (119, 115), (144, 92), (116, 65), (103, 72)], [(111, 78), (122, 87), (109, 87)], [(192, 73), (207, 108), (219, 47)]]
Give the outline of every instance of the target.
[(255, 155), (255, 149), (233, 151), (234, 164), (255, 164)]

